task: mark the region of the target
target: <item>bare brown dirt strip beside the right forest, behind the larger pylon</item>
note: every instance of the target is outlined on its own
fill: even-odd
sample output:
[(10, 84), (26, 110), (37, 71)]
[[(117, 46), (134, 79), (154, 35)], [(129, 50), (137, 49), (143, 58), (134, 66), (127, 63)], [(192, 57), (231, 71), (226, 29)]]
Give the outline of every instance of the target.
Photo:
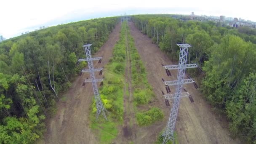
[[(172, 76), (167, 77), (161, 63), (173, 64), (172, 61), (155, 44), (152, 44), (151, 39), (147, 35), (143, 35), (132, 22), (129, 22), (129, 26), (131, 35), (135, 40), (135, 46), (147, 69), (149, 83), (156, 94), (154, 105), (162, 108), (165, 113), (164, 121), (150, 127), (140, 128), (139, 131), (141, 132), (137, 135), (143, 143), (154, 143), (156, 135), (165, 128), (170, 111), (170, 108), (165, 106), (161, 93), (161, 91), (165, 91), (161, 78), (176, 80), (177, 71), (171, 71)], [(226, 120), (221, 120), (221, 117), (213, 113), (211, 106), (195, 89), (194, 85), (184, 85), (184, 88), (189, 91), (195, 102), (191, 103), (189, 98), (181, 99), (176, 123), (179, 142), (181, 144), (238, 144), (237, 141), (229, 137)], [(171, 87), (171, 91), (174, 91), (174, 87)]]

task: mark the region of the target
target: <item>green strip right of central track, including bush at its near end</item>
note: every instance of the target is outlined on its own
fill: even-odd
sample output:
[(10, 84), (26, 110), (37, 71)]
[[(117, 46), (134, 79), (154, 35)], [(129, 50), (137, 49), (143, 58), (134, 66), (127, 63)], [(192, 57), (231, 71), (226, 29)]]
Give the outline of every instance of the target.
[[(127, 25), (126, 28), (129, 29)], [(146, 69), (135, 47), (134, 39), (131, 36), (130, 31), (127, 31), (127, 37), (131, 56), (132, 87), (134, 98), (133, 104), (134, 106), (138, 106), (140, 104), (149, 104), (149, 102), (155, 96), (155, 93), (153, 92), (152, 86), (149, 85)], [(161, 109), (156, 107), (153, 107), (148, 111), (136, 113), (137, 123), (141, 126), (150, 125), (155, 123), (157, 120), (162, 119), (163, 112)]]

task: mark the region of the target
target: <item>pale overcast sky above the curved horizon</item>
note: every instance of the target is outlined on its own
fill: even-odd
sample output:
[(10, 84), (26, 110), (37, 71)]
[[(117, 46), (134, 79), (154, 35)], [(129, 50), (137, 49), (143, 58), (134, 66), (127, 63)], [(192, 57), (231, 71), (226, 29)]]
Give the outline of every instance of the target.
[(22, 32), (69, 22), (124, 13), (168, 13), (237, 17), (256, 21), (254, 0), (2, 0), (0, 35), (5, 38)]

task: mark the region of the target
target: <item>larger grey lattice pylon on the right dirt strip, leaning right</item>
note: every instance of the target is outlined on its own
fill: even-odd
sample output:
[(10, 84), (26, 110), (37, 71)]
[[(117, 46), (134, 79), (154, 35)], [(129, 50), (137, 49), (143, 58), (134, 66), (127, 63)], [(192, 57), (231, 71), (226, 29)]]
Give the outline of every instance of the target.
[[(165, 144), (168, 140), (173, 141), (174, 143), (174, 129), (175, 129), (175, 123), (179, 111), (179, 102), (182, 97), (190, 96), (188, 92), (182, 93), (182, 86), (183, 84), (187, 83), (195, 83), (193, 79), (184, 79), (185, 72), (187, 68), (196, 68), (197, 64), (187, 64), (187, 54), (188, 54), (188, 48), (191, 47), (189, 44), (177, 44), (180, 47), (179, 52), (179, 64), (178, 65), (166, 65), (165, 67), (166, 73), (171, 74), (169, 70), (171, 69), (178, 69), (178, 80), (173, 81), (164, 81), (165, 88), (168, 94), (164, 95), (165, 97), (165, 103), (166, 105), (169, 105), (168, 99), (173, 99), (172, 102), (172, 108), (169, 116), (168, 123), (166, 125), (165, 131), (163, 132), (163, 144)], [(169, 75), (168, 75), (169, 76)], [(170, 94), (170, 85), (176, 85), (175, 93)]]

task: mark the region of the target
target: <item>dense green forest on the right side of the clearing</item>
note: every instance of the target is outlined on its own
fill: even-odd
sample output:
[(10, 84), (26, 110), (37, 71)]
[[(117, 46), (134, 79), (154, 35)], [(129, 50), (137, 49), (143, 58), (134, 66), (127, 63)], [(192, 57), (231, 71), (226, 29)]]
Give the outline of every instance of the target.
[(222, 27), (213, 21), (184, 21), (171, 15), (136, 15), (133, 21), (173, 60), (176, 43), (189, 43), (188, 63), (203, 72), (189, 70), (200, 91), (226, 115), (233, 137), (256, 144), (256, 29)]

